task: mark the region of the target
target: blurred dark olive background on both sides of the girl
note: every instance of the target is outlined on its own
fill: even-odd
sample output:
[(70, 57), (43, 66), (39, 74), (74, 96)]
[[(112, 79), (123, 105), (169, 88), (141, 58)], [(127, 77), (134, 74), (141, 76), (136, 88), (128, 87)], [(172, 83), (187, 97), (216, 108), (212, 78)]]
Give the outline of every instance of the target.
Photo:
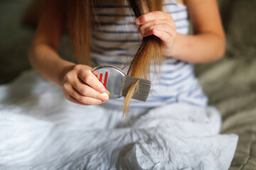
[[(43, 4), (43, 0), (0, 0), (0, 85), (31, 70), (28, 48)], [(256, 169), (256, 1), (218, 0), (218, 4), (227, 38), (225, 57), (196, 64), (196, 75), (209, 104), (222, 114), (221, 133), (240, 137), (230, 169)], [(60, 55), (72, 56), (66, 36)]]

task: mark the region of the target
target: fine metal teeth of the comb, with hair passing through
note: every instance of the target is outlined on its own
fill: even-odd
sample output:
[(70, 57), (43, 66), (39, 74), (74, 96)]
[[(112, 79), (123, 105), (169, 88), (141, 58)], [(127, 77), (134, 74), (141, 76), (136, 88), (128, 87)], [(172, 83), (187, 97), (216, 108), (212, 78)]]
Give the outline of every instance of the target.
[(146, 79), (139, 79), (136, 77), (126, 76), (124, 79), (124, 88), (122, 90), (122, 96), (127, 95), (129, 87), (132, 84), (134, 84), (137, 80), (139, 80), (139, 88), (137, 91), (135, 91), (134, 96), (132, 96), (132, 98), (139, 101), (146, 101), (146, 99), (149, 96), (149, 91), (151, 87), (151, 81)]

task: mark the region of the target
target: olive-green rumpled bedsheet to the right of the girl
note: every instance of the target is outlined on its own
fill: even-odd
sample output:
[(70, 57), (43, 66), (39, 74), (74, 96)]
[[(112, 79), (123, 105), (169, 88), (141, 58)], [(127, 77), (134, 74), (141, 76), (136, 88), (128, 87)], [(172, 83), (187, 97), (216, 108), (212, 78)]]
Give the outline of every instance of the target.
[(239, 135), (230, 170), (256, 169), (256, 60), (226, 57), (198, 65), (198, 78), (223, 119), (220, 133)]

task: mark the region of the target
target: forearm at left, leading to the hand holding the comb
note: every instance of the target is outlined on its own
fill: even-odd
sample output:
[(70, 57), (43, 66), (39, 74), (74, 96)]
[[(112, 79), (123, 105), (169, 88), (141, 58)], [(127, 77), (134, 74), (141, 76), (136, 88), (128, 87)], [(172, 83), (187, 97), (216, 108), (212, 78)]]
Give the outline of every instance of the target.
[(32, 45), (29, 61), (38, 74), (58, 86), (62, 86), (65, 73), (75, 65), (61, 59), (58, 53), (45, 43)]

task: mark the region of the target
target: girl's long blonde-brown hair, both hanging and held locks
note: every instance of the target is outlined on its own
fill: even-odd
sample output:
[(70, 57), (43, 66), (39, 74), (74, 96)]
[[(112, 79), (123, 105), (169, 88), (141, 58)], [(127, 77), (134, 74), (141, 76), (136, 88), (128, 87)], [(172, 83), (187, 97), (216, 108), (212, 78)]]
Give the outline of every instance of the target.
[[(159, 0), (127, 0), (136, 17), (151, 11), (161, 11)], [(92, 0), (68, 1), (68, 31), (78, 62), (91, 64), (90, 35), (92, 30)], [(82, 22), (81, 22), (82, 21)], [(154, 35), (143, 38), (139, 50), (130, 64), (128, 74), (132, 77), (149, 79), (151, 64), (162, 62), (161, 40)], [(138, 82), (129, 88), (124, 98), (124, 114), (129, 112), (129, 101), (137, 89)]]

